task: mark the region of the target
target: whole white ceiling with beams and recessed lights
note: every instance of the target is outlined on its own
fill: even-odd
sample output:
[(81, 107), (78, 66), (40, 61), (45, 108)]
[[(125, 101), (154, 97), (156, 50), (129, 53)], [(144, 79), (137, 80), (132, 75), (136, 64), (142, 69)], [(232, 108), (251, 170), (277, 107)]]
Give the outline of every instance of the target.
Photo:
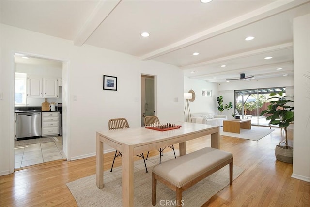
[[(1, 0), (1, 23), (224, 82), (240, 73), (293, 76), (293, 19), (309, 11), (309, 0)], [(245, 41), (247, 36), (255, 39)]]

